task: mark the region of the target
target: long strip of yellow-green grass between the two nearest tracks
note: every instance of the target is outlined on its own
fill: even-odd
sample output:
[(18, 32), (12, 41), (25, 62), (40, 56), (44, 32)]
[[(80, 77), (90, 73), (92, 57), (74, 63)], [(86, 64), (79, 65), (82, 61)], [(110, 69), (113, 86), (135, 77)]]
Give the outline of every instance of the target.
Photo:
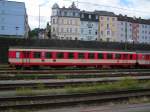
[(37, 84), (37, 89), (32, 88), (18, 88), (17, 95), (37, 95), (37, 94), (70, 94), (70, 93), (87, 93), (87, 92), (103, 92), (103, 91), (117, 91), (117, 90), (131, 90), (149, 88), (149, 82), (139, 83), (138, 80), (130, 77), (124, 78), (113, 83), (93, 83), (81, 84), (78, 86), (65, 86), (63, 88), (46, 88), (44, 84)]

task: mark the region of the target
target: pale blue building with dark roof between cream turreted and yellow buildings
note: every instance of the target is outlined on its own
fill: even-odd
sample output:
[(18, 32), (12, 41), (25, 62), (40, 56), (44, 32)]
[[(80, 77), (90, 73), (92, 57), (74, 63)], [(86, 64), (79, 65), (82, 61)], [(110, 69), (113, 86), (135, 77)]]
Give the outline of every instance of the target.
[(95, 41), (98, 39), (99, 17), (94, 12), (80, 12), (80, 40)]

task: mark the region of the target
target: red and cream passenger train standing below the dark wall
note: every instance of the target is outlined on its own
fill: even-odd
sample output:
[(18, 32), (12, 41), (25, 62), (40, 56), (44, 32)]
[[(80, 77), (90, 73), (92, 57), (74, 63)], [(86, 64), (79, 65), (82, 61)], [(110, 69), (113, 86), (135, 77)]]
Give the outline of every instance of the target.
[(21, 67), (150, 67), (150, 53), (46, 48), (9, 48), (9, 63)]

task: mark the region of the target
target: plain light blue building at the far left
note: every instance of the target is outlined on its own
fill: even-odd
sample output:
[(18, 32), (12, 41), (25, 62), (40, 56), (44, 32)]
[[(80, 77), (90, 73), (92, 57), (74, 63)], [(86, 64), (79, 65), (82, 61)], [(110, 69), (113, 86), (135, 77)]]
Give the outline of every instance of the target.
[(0, 1), (0, 36), (28, 37), (28, 17), (25, 3)]

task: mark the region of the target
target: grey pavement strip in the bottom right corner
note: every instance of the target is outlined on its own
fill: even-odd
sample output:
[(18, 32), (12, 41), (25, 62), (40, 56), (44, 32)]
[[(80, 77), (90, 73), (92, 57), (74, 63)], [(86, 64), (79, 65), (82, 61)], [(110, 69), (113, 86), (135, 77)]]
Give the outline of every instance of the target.
[(77, 107), (47, 109), (36, 112), (150, 112), (150, 103), (145, 104), (110, 104), (110, 105), (95, 105), (85, 106), (80, 105)]

